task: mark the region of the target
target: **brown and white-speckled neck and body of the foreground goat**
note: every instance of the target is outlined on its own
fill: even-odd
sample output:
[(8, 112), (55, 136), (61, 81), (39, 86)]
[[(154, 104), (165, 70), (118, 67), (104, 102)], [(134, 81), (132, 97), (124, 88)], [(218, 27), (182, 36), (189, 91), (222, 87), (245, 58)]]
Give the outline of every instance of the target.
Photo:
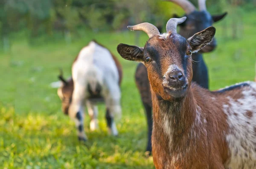
[(255, 82), (215, 92), (192, 84), (177, 102), (152, 96), (156, 168), (256, 167)]

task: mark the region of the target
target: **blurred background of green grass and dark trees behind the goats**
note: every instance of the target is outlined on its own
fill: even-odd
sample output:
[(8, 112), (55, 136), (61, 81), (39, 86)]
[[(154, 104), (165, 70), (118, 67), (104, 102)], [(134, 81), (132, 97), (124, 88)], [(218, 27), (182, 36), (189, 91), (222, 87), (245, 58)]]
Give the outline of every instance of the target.
[[(228, 12), (214, 24), (217, 49), (204, 54), (210, 89), (253, 80), (256, 0), (207, 0), (207, 10)], [(122, 59), (116, 46), (144, 46), (148, 36), (127, 25), (148, 22), (165, 32), (173, 14), (181, 17), (184, 11), (161, 0), (0, 0), (0, 167), (153, 168), (144, 153), (147, 128), (134, 82), (137, 63)], [(81, 145), (50, 84), (58, 81), (58, 68), (71, 76), (73, 60), (92, 39), (122, 63), (123, 116), (120, 136), (113, 138), (100, 105), (100, 130), (90, 132), (86, 116), (89, 141)]]

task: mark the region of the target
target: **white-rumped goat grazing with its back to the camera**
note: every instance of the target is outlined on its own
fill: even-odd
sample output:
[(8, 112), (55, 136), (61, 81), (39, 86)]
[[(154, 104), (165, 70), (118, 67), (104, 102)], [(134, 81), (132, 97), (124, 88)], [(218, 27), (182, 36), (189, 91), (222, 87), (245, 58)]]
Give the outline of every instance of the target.
[(87, 140), (83, 125), (84, 103), (91, 118), (90, 130), (93, 131), (98, 128), (96, 103), (105, 101), (109, 132), (118, 135), (113, 117), (121, 114), (122, 67), (107, 48), (95, 40), (91, 41), (73, 62), (72, 78), (66, 80), (62, 73), (58, 78), (62, 82), (58, 88), (62, 111), (75, 121), (80, 141)]

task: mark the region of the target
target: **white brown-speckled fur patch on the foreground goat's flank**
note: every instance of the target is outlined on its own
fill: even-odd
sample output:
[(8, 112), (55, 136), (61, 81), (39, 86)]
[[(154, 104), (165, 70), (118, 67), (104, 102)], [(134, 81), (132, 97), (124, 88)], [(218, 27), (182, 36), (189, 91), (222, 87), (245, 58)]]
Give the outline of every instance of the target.
[(229, 102), (223, 104), (230, 127), (226, 135), (230, 159), (225, 167), (230, 169), (256, 168), (256, 83), (247, 83), (250, 86), (243, 87), (243, 97), (227, 97)]

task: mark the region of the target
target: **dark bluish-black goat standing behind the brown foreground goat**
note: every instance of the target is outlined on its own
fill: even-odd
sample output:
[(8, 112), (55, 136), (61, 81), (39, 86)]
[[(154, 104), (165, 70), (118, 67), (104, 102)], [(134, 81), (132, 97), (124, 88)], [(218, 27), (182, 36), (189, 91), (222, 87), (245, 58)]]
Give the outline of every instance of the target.
[[(212, 23), (218, 22), (223, 19), (227, 12), (220, 15), (211, 16), (206, 9), (205, 0), (198, 0), (199, 11), (196, 11), (195, 6), (190, 3), (188, 0), (168, 0), (176, 3), (186, 12), (186, 21), (180, 24), (180, 32), (179, 34), (185, 38), (189, 38), (190, 35), (193, 35), (199, 31), (204, 30), (205, 28), (212, 25)], [(177, 15), (175, 14), (175, 17)], [(212, 42), (202, 48), (202, 50), (198, 53), (192, 54), (192, 59), (195, 62), (192, 62), (192, 70), (193, 70), (193, 82), (197, 82), (204, 88), (209, 88), (208, 85), (208, 70), (207, 66), (204, 63), (202, 53), (207, 53), (213, 51), (217, 46), (217, 42), (215, 39)], [(150, 85), (148, 82), (148, 73), (147, 69), (142, 63), (137, 65), (137, 69), (135, 72), (135, 81), (137, 88), (140, 91), (141, 100), (143, 102), (143, 106), (145, 109), (145, 114), (147, 116), (147, 124), (148, 124), (148, 143), (146, 151), (151, 152), (151, 135), (152, 135), (152, 101), (151, 101), (151, 92)]]

